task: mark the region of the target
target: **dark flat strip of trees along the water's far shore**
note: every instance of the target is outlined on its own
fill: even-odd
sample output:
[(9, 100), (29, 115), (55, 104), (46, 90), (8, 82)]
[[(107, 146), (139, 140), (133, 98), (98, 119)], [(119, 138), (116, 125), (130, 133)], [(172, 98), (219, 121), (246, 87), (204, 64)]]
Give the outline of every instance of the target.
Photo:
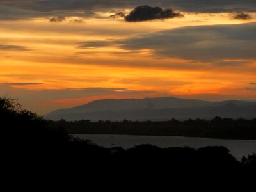
[(75, 122), (48, 121), (51, 129), (63, 129), (70, 134), (130, 134), (154, 136), (189, 136), (225, 139), (256, 139), (256, 118), (233, 120), (216, 117), (212, 120), (172, 119), (163, 122), (123, 122), (80, 120)]

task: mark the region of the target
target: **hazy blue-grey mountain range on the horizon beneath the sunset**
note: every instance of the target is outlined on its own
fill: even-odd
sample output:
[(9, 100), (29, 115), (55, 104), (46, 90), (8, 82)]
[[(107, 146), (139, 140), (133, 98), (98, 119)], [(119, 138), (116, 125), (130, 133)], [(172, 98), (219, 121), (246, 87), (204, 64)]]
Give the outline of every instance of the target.
[(157, 97), (145, 99), (95, 100), (82, 106), (60, 109), (45, 115), (51, 120), (186, 120), (188, 118), (211, 119), (256, 118), (256, 102), (226, 100), (209, 102), (197, 99)]

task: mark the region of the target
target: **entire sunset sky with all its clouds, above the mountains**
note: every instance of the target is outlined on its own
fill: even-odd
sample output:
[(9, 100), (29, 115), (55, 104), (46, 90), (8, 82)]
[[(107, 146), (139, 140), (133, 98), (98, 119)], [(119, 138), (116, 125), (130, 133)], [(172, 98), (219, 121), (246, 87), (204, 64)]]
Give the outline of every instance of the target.
[(0, 97), (256, 100), (255, 0), (1, 0)]

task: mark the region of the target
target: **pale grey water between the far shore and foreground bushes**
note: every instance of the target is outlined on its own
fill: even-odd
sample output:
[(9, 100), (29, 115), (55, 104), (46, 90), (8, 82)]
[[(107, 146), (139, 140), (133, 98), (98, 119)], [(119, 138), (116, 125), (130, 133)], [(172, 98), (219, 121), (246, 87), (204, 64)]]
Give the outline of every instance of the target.
[(106, 134), (74, 134), (81, 139), (92, 140), (103, 147), (131, 148), (135, 145), (151, 144), (158, 147), (193, 147), (224, 146), (230, 153), (241, 160), (241, 157), (256, 153), (256, 140), (222, 140), (209, 138), (187, 138), (180, 136), (129, 136)]

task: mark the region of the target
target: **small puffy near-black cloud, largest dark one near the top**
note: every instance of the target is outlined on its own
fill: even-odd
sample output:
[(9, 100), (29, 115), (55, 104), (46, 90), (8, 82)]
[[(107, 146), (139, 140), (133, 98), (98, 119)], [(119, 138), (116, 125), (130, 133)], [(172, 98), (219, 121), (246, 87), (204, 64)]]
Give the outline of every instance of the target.
[(174, 17), (182, 17), (179, 12), (173, 12), (170, 8), (163, 10), (159, 6), (142, 5), (137, 6), (129, 15), (125, 16), (127, 22), (140, 22), (155, 19), (170, 19)]

